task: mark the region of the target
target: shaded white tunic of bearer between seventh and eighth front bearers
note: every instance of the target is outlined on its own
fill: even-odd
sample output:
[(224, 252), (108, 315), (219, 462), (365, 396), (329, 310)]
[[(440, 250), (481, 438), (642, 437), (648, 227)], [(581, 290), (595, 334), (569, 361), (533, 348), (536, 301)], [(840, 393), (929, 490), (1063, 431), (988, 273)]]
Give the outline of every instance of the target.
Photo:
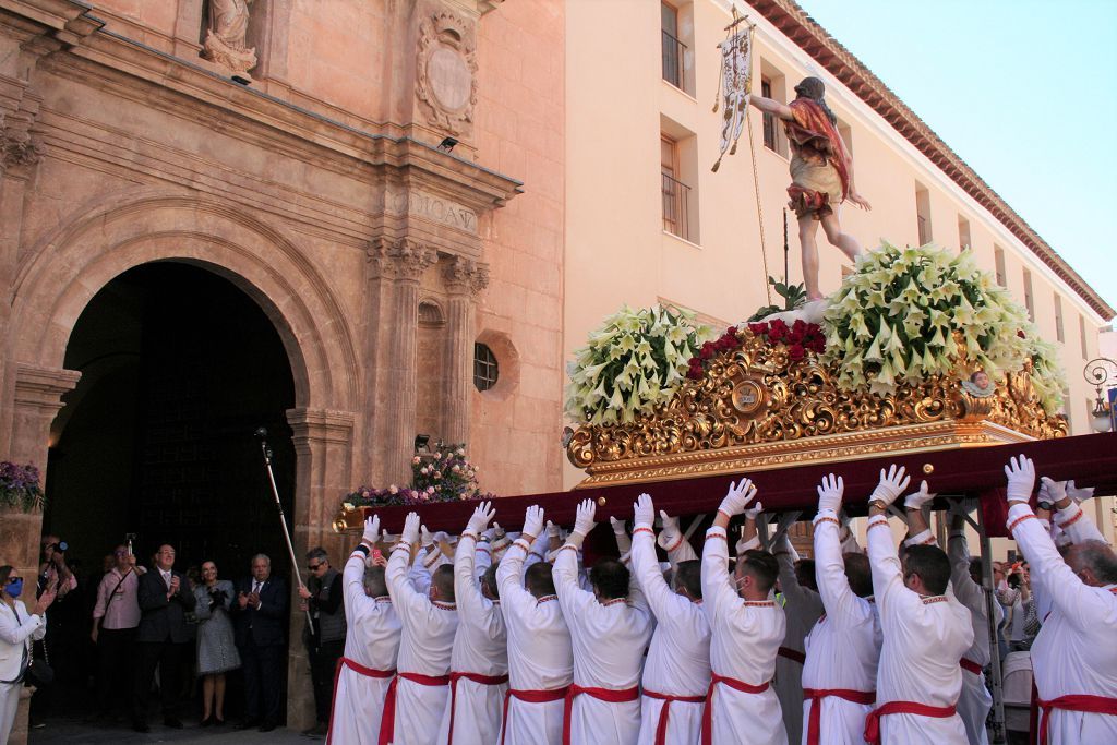
[[(822, 615), (822, 599), (815, 591), (799, 584), (799, 577), (795, 576), (799, 554), (786, 534), (780, 537), (774, 546), (774, 553), (780, 565), (780, 590), (786, 600), (783, 610), (787, 618), (787, 633), (780, 646), (802, 655), (806, 634)], [(787, 742), (798, 743), (803, 733), (803, 665), (781, 653), (775, 660), (773, 685), (775, 695), (780, 699), (780, 708), (783, 710)]]

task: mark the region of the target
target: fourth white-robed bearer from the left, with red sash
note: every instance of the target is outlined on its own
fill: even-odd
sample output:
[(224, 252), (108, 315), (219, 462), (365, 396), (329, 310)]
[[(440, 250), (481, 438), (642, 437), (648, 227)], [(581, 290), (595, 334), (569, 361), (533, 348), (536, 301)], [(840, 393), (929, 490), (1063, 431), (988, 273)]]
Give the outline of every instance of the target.
[(543, 510), (532, 506), (524, 532), (496, 571), (508, 634), (508, 682), (502, 745), (561, 745), (563, 701), (574, 679), (570, 630), (558, 606), (552, 566), (524, 570), (532, 542), (543, 532)]

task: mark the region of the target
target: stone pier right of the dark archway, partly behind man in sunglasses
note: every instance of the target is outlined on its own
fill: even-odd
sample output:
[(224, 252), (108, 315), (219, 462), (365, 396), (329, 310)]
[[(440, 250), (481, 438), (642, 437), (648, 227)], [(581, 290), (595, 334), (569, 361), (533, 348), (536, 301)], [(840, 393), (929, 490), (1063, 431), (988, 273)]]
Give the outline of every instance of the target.
[[(302, 571), (303, 557), (314, 546), (330, 553), (333, 564), (344, 564), (344, 539), (331, 529), (351, 479), (353, 421), (347, 411), (288, 409), (287, 422), (294, 432), (295, 499), (290, 515), (292, 543)], [(276, 528), (278, 529), (278, 525)], [(287, 564), (288, 560), (283, 560)], [(303, 580), (306, 580), (304, 574)], [(298, 584), (290, 588), (290, 642), (287, 661), (287, 726), (305, 729), (314, 725), (314, 690), (306, 647), (302, 643), (306, 614), (298, 610)]]

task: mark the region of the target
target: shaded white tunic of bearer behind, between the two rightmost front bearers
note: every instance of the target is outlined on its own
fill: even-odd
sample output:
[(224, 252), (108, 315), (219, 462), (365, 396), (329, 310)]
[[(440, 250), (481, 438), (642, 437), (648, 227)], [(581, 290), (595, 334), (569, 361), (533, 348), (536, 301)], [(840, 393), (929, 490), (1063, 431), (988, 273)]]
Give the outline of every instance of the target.
[[(985, 591), (970, 575), (970, 546), (966, 544), (964, 531), (951, 531), (946, 544), (946, 553), (951, 560), (951, 585), (954, 596), (967, 611), (974, 630), (974, 643), (963, 657), (980, 667), (990, 663), (989, 651), (989, 606), (985, 603)], [(993, 603), (994, 628), (1004, 620), (1001, 604)], [(1023, 614), (1021, 612), (1021, 614)], [(970, 745), (986, 745), (989, 733), (985, 730), (985, 719), (993, 708), (993, 696), (985, 687), (985, 674), (974, 674), (962, 668), (962, 694), (958, 696), (958, 716), (966, 727)]]

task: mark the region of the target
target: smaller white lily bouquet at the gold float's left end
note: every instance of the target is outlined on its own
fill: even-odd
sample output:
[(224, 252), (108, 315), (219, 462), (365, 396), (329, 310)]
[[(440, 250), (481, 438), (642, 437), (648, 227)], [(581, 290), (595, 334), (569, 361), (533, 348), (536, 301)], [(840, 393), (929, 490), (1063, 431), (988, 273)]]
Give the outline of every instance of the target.
[(629, 423), (671, 399), (690, 357), (710, 336), (694, 314), (623, 306), (567, 363), (566, 416), (591, 424)]

